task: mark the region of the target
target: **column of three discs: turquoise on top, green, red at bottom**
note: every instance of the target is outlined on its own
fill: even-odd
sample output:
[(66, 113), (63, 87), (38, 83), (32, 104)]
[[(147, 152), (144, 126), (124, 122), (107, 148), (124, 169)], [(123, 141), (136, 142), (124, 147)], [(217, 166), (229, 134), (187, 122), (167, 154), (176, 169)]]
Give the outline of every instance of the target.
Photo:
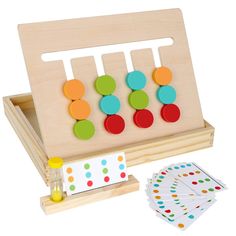
[(154, 121), (152, 112), (146, 109), (149, 104), (149, 97), (142, 90), (146, 83), (146, 76), (141, 71), (132, 71), (126, 76), (126, 84), (132, 90), (129, 94), (128, 102), (136, 110), (133, 120), (139, 128), (148, 128)]

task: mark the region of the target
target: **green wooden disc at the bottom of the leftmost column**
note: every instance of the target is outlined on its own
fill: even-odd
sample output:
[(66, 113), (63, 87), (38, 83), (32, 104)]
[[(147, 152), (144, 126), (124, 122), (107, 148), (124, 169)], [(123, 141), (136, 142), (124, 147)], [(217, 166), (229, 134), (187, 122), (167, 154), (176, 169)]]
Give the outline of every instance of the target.
[(74, 124), (73, 131), (77, 138), (87, 140), (93, 137), (95, 127), (91, 121), (81, 120)]

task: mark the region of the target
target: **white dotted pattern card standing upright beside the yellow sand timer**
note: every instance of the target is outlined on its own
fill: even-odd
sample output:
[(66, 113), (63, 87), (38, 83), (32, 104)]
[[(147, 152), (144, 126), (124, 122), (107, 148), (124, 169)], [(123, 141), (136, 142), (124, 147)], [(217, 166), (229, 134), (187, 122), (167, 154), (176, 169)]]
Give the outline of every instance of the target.
[(76, 161), (63, 166), (67, 195), (128, 180), (123, 152)]

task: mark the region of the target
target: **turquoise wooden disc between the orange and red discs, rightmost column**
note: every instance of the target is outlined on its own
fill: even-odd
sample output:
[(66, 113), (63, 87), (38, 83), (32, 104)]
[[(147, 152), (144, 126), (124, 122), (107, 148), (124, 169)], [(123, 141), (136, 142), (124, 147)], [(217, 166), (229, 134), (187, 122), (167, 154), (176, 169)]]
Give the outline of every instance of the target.
[(157, 89), (157, 99), (163, 104), (171, 104), (176, 99), (176, 91), (172, 86), (161, 86)]

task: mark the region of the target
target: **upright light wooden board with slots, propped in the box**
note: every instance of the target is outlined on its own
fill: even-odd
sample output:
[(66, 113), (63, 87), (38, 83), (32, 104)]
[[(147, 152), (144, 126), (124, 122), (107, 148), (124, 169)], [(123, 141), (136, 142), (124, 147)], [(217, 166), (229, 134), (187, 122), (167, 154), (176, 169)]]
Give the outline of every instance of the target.
[[(204, 127), (183, 17), (179, 9), (22, 24), (19, 25), (19, 34), (48, 156), (66, 158), (85, 155)], [(62, 61), (44, 62), (42, 54), (166, 37), (173, 38), (174, 44), (159, 48), (159, 54), (162, 65), (169, 67), (174, 75), (171, 85), (177, 92), (175, 103), (181, 108), (180, 120), (167, 123), (160, 118), (162, 104), (155, 97), (157, 85), (151, 79), (154, 69), (152, 51), (135, 50), (131, 52), (134, 69), (143, 71), (147, 76), (148, 83), (144, 90), (150, 99), (148, 109), (155, 117), (155, 123), (148, 129), (135, 126), (132, 120), (135, 111), (128, 104), (131, 91), (125, 84), (126, 62), (123, 52), (117, 52), (103, 55), (102, 58), (105, 72), (116, 80), (114, 95), (120, 99), (119, 114), (126, 121), (126, 129), (120, 135), (107, 133), (103, 126), (106, 116), (98, 107), (101, 96), (94, 89), (97, 69), (91, 55), (74, 58), (71, 65), (74, 78), (85, 84), (84, 99), (92, 107), (89, 119), (95, 124), (96, 134), (87, 141), (76, 138), (72, 131), (75, 120), (68, 113), (70, 101), (62, 91), (64, 82), (72, 78), (66, 78)]]

